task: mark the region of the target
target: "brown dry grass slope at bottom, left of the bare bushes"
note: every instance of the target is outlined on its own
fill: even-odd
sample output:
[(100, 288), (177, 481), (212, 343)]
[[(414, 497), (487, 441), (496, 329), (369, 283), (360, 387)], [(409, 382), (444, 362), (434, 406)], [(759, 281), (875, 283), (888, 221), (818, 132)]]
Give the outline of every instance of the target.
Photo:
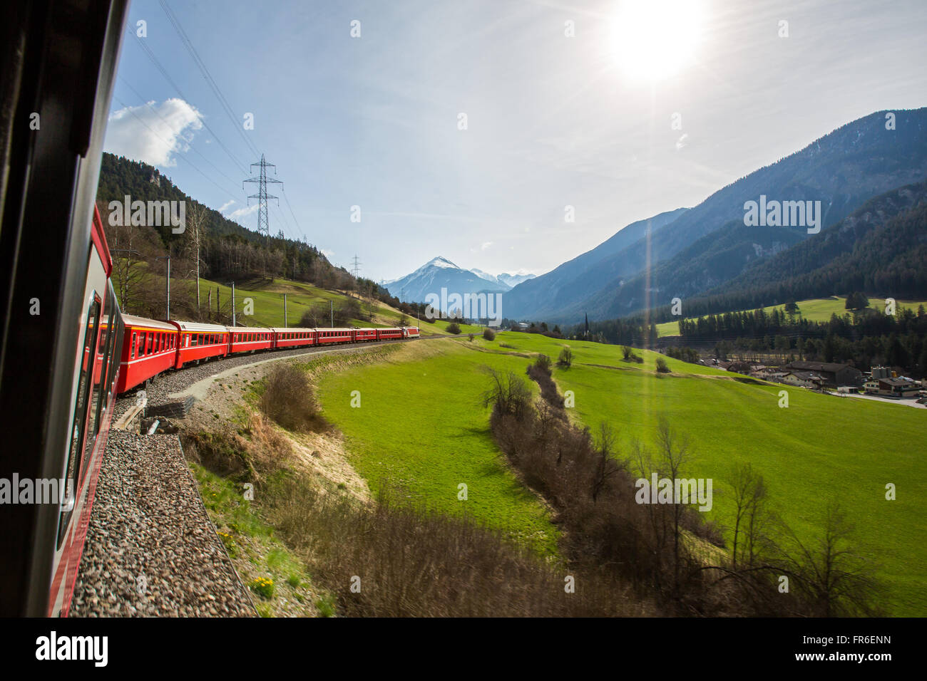
[[(264, 497), (264, 495), (262, 495)], [(270, 520), (337, 594), (339, 612), (387, 617), (652, 614), (608, 576), (578, 577), (473, 521), (381, 497), (360, 505), (299, 477), (273, 493)], [(575, 591), (567, 592), (567, 577)], [(352, 589), (352, 586), (354, 587)], [(358, 587), (360, 590), (358, 590)]]

